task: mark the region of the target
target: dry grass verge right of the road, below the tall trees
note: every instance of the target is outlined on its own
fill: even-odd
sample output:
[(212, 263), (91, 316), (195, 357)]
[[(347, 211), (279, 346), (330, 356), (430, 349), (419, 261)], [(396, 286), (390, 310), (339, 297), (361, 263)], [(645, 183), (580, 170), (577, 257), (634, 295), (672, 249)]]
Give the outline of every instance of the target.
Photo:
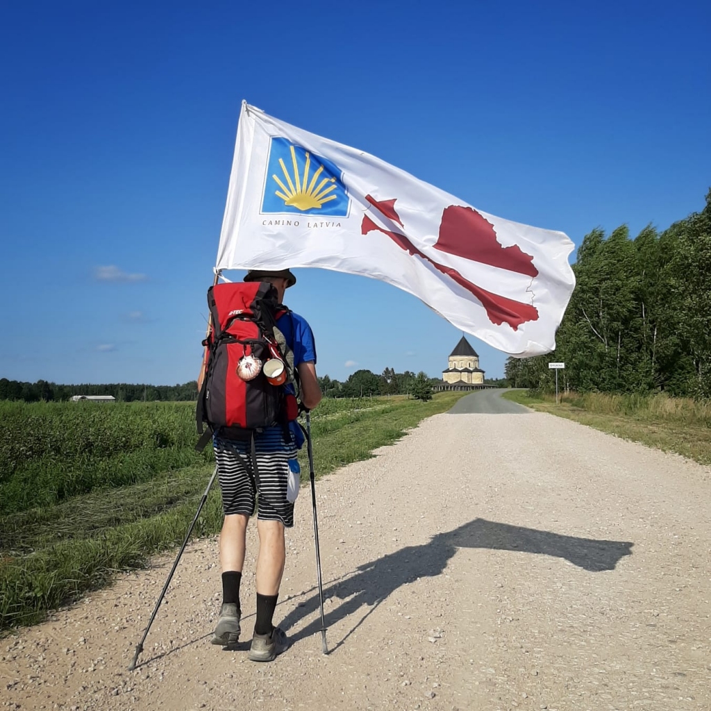
[(648, 447), (673, 451), (711, 464), (711, 403), (665, 395), (608, 395), (602, 392), (529, 395), (510, 390), (503, 397), (539, 412), (574, 419)]

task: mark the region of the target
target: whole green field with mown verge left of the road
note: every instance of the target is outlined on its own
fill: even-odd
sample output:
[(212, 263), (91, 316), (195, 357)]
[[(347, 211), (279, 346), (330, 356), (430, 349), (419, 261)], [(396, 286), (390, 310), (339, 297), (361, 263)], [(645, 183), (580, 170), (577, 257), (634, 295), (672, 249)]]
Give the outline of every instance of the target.
[[(466, 393), (324, 400), (311, 415), (316, 476), (367, 459)], [(213, 469), (194, 403), (0, 402), (0, 632), (182, 542)], [(309, 478), (306, 447), (302, 479)], [(222, 523), (215, 485), (193, 535)]]

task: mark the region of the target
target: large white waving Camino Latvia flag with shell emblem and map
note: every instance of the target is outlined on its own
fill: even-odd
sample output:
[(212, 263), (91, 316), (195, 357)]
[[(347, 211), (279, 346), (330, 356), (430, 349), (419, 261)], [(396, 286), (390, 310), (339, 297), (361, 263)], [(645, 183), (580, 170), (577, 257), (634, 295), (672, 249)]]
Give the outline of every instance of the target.
[(573, 246), (242, 103), (215, 269), (380, 279), (523, 358), (555, 348)]

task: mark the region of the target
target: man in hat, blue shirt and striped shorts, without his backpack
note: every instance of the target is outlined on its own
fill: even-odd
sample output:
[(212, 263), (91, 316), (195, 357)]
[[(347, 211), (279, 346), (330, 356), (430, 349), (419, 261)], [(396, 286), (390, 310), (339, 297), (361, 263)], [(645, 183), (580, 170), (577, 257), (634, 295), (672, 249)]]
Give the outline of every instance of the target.
[[(278, 292), (279, 303), (284, 292), (296, 283), (289, 269), (247, 272), (245, 282), (269, 282)], [(312, 410), (321, 401), (321, 389), (316, 380), (316, 346), (311, 327), (301, 316), (289, 312), (277, 319), (277, 328), (284, 334), (294, 353), (294, 368), (299, 375), (300, 397), (304, 407)], [(296, 461), (300, 432), (286, 432), (284, 427), (267, 427), (255, 434), (258, 478), (247, 471), (251, 465), (249, 443), (215, 437), (215, 461), (222, 490), (225, 521), (220, 533), (220, 565), (222, 567), (223, 604), (213, 635), (213, 644), (226, 646), (240, 636), (240, 582), (245, 563), (247, 523), (255, 511), (256, 492), (252, 481), (259, 481), (257, 533), (260, 549), (257, 555), (257, 619), (249, 658), (252, 661), (272, 661), (282, 653), (289, 641), (284, 631), (274, 627), (272, 619), (279, 598), (284, 574), (286, 548), (284, 528), (294, 525), (294, 496), (287, 500), (289, 473), (298, 481)], [(292, 474), (292, 476), (294, 476)]]

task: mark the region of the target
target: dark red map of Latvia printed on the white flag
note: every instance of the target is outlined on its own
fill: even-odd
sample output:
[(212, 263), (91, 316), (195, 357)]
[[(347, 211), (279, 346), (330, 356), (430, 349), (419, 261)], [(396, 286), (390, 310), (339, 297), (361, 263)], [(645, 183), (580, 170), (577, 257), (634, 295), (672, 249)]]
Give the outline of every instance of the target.
[[(400, 215), (395, 211), (397, 198), (378, 202), (368, 195), (365, 199), (380, 213), (383, 213), (386, 218), (404, 228)], [(484, 309), (486, 309), (486, 315), (492, 324), (497, 326), (508, 324), (514, 331), (517, 331), (518, 326), (526, 321), (538, 320), (538, 309), (535, 309), (534, 306), (524, 304), (522, 301), (515, 301), (515, 299), (508, 299), (506, 296), (493, 294), (486, 289), (478, 287), (473, 282), (470, 282), (469, 279), (463, 277), (456, 269), (446, 267), (444, 264), (439, 264), (427, 257), (405, 235), (384, 230), (378, 227), (368, 215), (365, 215), (363, 224), (360, 227), (361, 233), (367, 235), (368, 232), (375, 230), (383, 232), (396, 245), (411, 255), (417, 255), (429, 262), (437, 271), (447, 274), (448, 277), (454, 279), (457, 284), (464, 287), (476, 299), (479, 299)], [(458, 257), (464, 257), (464, 259), (489, 264), (492, 267), (508, 269), (510, 272), (526, 274), (530, 277), (538, 275), (538, 269), (533, 266), (533, 257), (531, 255), (521, 251), (518, 245), (502, 247), (496, 240), (496, 232), (494, 232), (493, 225), (479, 215), (476, 210), (464, 208), (461, 205), (449, 205), (444, 210), (442, 223), (439, 225), (437, 243), (434, 247), (442, 252), (449, 252)]]

